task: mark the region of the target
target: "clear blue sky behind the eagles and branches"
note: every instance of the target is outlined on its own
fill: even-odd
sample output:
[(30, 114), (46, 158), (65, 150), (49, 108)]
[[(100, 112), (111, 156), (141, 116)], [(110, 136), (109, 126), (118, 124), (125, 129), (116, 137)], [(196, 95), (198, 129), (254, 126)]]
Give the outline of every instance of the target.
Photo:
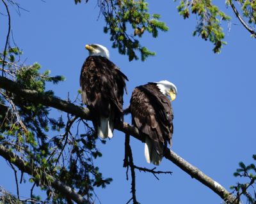
[[(255, 154), (255, 40), (224, 2), (219, 4), (230, 13), (227, 46), (221, 54), (212, 52), (209, 41), (193, 37), (196, 18), (183, 20), (173, 1), (149, 1), (150, 12), (161, 14), (170, 31), (159, 33), (152, 39), (145, 35), (141, 44), (157, 52), (145, 62), (129, 62), (127, 57), (111, 48), (109, 35), (104, 34), (104, 18), (99, 17), (95, 1), (75, 5), (69, 1), (22, 1), (21, 16), (12, 9), (12, 30), (15, 42), (24, 51), (26, 64), (39, 62), (42, 70), (51, 69), (52, 75), (64, 75), (65, 82), (49, 85), (56, 96), (75, 98), (79, 89), (79, 75), (88, 52), (87, 43), (99, 43), (109, 48), (115, 62), (129, 78), (128, 95), (124, 107), (129, 105), (131, 92), (137, 85), (159, 80), (170, 80), (178, 89), (172, 103), (174, 135), (172, 149), (227, 189), (236, 184), (232, 173), (239, 161), (252, 162)], [(3, 12), (3, 6), (0, 11)], [(7, 32), (7, 18), (0, 15), (0, 47), (3, 50)], [(5, 26), (5, 27), (4, 27)], [(229, 31), (228, 31), (229, 30)], [(125, 117), (131, 122), (131, 117)], [(153, 168), (143, 155), (144, 145), (131, 140), (134, 162), (138, 166)], [(124, 133), (115, 131), (114, 138), (100, 145), (103, 157), (95, 163), (105, 177), (113, 182), (106, 189), (96, 189), (100, 202), (126, 203), (130, 198), (131, 180), (125, 180)], [(0, 159), (3, 170), (0, 186), (15, 193), (13, 173)], [(140, 203), (221, 203), (220, 197), (203, 184), (180, 170), (175, 164), (163, 160), (158, 170), (173, 171), (172, 176), (137, 172), (136, 193)], [(29, 177), (26, 176), (28, 179)], [(20, 187), (22, 196), (29, 195), (29, 184)], [(99, 203), (96, 200), (95, 203)]]

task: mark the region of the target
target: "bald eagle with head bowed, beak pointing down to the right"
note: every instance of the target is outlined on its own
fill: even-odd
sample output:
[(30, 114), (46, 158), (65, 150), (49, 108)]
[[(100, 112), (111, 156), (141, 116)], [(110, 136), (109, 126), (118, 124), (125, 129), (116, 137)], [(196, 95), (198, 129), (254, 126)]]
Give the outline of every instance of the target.
[(148, 83), (134, 89), (130, 106), (132, 124), (144, 135), (145, 158), (148, 163), (159, 165), (167, 142), (172, 145), (173, 110), (170, 96), (176, 98), (177, 88), (166, 80)]

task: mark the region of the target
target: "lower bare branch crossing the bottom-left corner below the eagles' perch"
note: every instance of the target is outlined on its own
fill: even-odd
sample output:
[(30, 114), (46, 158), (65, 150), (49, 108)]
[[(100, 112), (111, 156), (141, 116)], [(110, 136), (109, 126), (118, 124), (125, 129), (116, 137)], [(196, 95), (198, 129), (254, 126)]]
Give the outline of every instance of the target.
[[(10, 161), (12, 164), (17, 166), (20, 171), (24, 171), (28, 173), (29, 175), (32, 175), (35, 177), (38, 175), (38, 169), (35, 168), (35, 166), (30, 166), (28, 163), (26, 163), (22, 158), (14, 154), (12, 151), (6, 149), (3, 145), (0, 145), (0, 155), (4, 157), (4, 159)], [(74, 200), (78, 204), (90, 204), (90, 201), (86, 200), (78, 194), (74, 189), (67, 186), (66, 184), (63, 184), (60, 180), (54, 179), (51, 175), (47, 175), (46, 173), (42, 173), (41, 180), (51, 180), (51, 186), (54, 187), (54, 189), (60, 191), (63, 195), (67, 196), (68, 198)]]

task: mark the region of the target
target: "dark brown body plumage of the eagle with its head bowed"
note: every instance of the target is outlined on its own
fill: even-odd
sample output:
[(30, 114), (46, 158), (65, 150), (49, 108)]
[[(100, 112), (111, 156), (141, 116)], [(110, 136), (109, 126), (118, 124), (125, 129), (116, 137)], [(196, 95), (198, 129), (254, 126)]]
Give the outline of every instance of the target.
[(172, 145), (173, 112), (170, 100), (155, 83), (148, 83), (132, 92), (130, 111), (134, 125), (140, 133), (154, 141), (157, 153), (163, 155), (166, 142)]

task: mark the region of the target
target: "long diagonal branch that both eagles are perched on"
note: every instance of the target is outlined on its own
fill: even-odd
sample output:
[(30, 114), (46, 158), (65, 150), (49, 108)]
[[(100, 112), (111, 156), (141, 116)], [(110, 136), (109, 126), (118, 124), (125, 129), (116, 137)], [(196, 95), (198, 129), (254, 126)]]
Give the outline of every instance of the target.
[[(5, 77), (0, 77), (0, 88), (26, 98), (33, 103), (40, 103), (45, 106), (51, 106), (53, 108), (57, 108), (58, 110), (62, 110), (64, 112), (71, 113), (72, 115), (81, 117), (82, 119), (90, 120), (90, 112), (88, 108), (76, 106), (73, 103), (63, 101), (62, 99), (56, 98), (55, 96), (47, 96), (45, 93), (39, 93), (28, 89), (20, 89), (16, 82), (8, 80)], [(122, 131), (125, 134), (129, 134), (141, 142), (145, 142), (145, 137), (139, 135), (138, 129), (130, 126), (126, 122), (119, 122), (118, 124), (115, 124), (115, 129)], [(236, 203), (236, 198), (230, 195), (227, 189), (218, 184), (218, 182), (215, 180), (205, 175), (195, 166), (189, 164), (186, 160), (182, 159), (182, 157), (175, 154), (175, 152), (172, 150), (166, 148), (164, 150), (164, 157), (179, 166), (179, 168), (182, 170), (186, 171), (186, 173), (191, 175), (192, 178), (200, 181), (202, 184), (212, 189), (212, 191), (214, 191), (223, 200), (225, 200), (227, 204)]]

